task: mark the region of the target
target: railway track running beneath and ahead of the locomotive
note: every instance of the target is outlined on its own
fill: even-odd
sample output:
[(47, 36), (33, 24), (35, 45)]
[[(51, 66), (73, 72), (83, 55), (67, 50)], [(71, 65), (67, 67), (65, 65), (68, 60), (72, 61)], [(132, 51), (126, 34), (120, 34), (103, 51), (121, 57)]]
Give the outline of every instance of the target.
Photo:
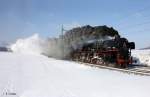
[(96, 64), (91, 64), (91, 63), (84, 63), (84, 62), (79, 62), (79, 63), (83, 65), (91, 66), (91, 67), (109, 69), (109, 70), (119, 71), (119, 72), (128, 73), (128, 74), (150, 76), (150, 66), (140, 65), (140, 66), (135, 66), (132, 68), (120, 69), (120, 68), (115, 68), (115, 67), (110, 67), (110, 66), (108, 67), (104, 65), (96, 65)]

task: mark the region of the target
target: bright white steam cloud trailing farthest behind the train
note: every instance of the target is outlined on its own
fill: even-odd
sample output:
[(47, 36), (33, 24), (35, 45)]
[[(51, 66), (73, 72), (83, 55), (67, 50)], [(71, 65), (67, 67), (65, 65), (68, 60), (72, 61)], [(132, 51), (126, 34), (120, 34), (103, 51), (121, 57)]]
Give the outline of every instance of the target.
[(38, 34), (25, 39), (18, 39), (11, 45), (11, 50), (17, 53), (41, 54), (43, 53), (45, 41), (39, 38)]

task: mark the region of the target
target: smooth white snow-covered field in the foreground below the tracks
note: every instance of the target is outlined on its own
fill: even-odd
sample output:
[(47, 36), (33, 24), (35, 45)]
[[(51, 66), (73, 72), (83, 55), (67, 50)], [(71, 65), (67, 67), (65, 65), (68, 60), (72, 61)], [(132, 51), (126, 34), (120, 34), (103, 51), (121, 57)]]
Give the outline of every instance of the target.
[(150, 97), (150, 77), (0, 52), (0, 97)]

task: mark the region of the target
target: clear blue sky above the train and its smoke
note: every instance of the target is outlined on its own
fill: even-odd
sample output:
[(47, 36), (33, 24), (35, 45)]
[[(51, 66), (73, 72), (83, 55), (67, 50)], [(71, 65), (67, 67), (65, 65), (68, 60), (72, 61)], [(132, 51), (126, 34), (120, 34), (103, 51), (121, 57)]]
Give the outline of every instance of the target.
[(38, 33), (56, 37), (83, 25), (107, 25), (136, 48), (150, 46), (149, 0), (0, 0), (0, 42)]

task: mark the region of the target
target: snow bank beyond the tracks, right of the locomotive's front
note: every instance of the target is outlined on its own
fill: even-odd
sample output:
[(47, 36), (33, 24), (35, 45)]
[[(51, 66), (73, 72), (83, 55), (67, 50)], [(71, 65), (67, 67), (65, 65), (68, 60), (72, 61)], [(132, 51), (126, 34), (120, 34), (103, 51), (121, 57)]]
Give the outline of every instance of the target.
[(150, 50), (133, 50), (132, 56), (137, 60), (137, 63), (150, 66)]

